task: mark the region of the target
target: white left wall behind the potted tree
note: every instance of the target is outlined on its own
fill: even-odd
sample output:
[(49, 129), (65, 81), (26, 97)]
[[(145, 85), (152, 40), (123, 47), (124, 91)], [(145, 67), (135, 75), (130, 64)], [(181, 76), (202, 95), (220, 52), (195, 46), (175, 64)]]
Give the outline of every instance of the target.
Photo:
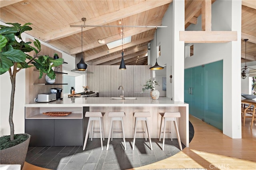
[[(6, 25), (0, 21), (0, 24)], [(34, 37), (23, 33), (22, 39), (26, 38), (34, 39)], [(68, 55), (59, 49), (52, 47), (51, 45), (40, 41), (42, 45), (46, 45), (56, 51), (62, 53), (62, 58), (68, 64), (63, 64), (63, 68), (67, 70), (74, 69), (74, 57)], [(0, 75), (0, 128), (2, 129), (2, 135), (10, 135), (9, 125), (9, 109), (10, 109), (10, 94), (11, 94), (11, 82), (9, 72)], [(24, 104), (25, 104), (25, 69), (22, 69), (17, 73), (16, 76), (16, 89), (14, 97), (14, 133), (24, 133), (25, 131), (25, 120), (24, 120)]]

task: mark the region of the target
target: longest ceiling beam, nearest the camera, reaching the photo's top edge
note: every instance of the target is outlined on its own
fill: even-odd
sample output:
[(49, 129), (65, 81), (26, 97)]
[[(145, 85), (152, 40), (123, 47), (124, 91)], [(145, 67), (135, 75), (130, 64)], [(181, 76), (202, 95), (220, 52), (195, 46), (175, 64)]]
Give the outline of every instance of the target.
[[(129, 6), (127, 8), (123, 8), (121, 10), (108, 13), (96, 18), (93, 18), (91, 20), (86, 21), (86, 25), (105, 25), (107, 23), (120, 20), (122, 18), (126, 18), (128, 16), (132, 16), (135, 14), (139, 14), (141, 12), (156, 8), (158, 6), (162, 6), (165, 4), (171, 3), (172, 0), (158, 0), (158, 1), (144, 1), (140, 2), (136, 5)], [(82, 17), (82, 16), (81, 16)], [(80, 22), (76, 22), (72, 25), (81, 25)], [(85, 27), (84, 31), (92, 29), (94, 27)], [(76, 33), (79, 33), (81, 31), (80, 27), (70, 27), (70, 25), (66, 25), (65, 27), (62, 27), (58, 30), (54, 30), (51, 32), (48, 32), (45, 34), (44, 41), (49, 42), (49, 41), (54, 41), (60, 38), (64, 38)]]

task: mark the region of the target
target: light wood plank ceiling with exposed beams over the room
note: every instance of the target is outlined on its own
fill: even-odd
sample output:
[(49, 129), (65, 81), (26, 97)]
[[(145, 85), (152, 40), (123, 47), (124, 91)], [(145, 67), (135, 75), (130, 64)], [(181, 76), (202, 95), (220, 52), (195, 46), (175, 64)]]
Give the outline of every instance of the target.
[[(185, 0), (185, 28), (196, 24), (202, 1)], [(88, 64), (119, 65), (122, 46), (108, 49), (106, 43), (122, 39), (120, 27), (85, 27), (81, 39), (81, 27), (70, 25), (83, 25), (82, 17), (87, 19), (86, 25), (161, 25), (170, 3), (172, 0), (0, 0), (0, 20), (30, 22), (33, 29), (27, 33), (74, 57), (83, 49)], [(124, 27), (124, 37), (132, 39), (123, 47), (126, 65), (148, 64), (148, 43), (155, 31), (151, 27)], [(242, 0), (244, 38), (249, 39), (247, 60), (256, 61), (256, 4), (250, 0)], [(244, 41), (241, 47), (244, 62)]]

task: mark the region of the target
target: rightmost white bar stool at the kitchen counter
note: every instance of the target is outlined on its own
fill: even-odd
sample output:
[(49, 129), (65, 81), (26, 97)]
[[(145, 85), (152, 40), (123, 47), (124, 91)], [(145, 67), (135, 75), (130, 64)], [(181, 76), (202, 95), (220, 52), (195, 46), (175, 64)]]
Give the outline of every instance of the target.
[[(164, 150), (164, 139), (165, 139), (165, 133), (166, 133), (166, 121), (173, 121), (175, 130), (176, 130), (176, 134), (177, 134), (177, 137), (178, 137), (178, 142), (179, 142), (179, 145), (180, 145), (180, 150), (182, 150), (182, 145), (181, 145), (181, 141), (180, 141), (180, 133), (179, 133), (179, 129), (178, 129), (178, 125), (177, 125), (177, 119), (176, 119), (176, 117), (180, 117), (180, 112), (165, 112), (165, 113), (159, 113), (159, 114), (161, 115), (159, 141), (161, 141), (162, 123), (164, 121), (164, 136), (163, 136), (162, 150)], [(172, 140), (172, 133), (171, 133), (171, 140)]]

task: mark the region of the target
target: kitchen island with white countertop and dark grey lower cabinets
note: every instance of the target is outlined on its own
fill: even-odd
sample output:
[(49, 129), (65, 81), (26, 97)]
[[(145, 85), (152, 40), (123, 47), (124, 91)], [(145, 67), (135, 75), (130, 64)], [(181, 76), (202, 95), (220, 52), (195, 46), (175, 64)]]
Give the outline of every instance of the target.
[[(50, 111), (70, 111), (72, 114), (67, 116), (48, 116), (42, 113)], [(124, 111), (124, 131), (126, 138), (133, 138), (135, 111), (150, 111), (151, 117), (148, 118), (149, 131), (151, 138), (159, 138), (160, 120), (159, 112), (180, 112), (178, 119), (180, 139), (188, 147), (188, 104), (175, 102), (170, 98), (160, 97), (152, 100), (149, 97), (138, 97), (136, 99), (113, 100), (109, 97), (99, 98), (68, 98), (48, 103), (25, 104), (25, 132), (32, 135), (31, 146), (68, 146), (82, 145), (88, 118), (84, 117), (86, 111), (105, 112), (103, 117), (104, 136), (108, 137), (110, 128), (109, 111)], [(98, 122), (94, 125), (94, 131), (99, 128)], [(174, 125), (172, 124), (172, 137), (176, 138)], [(119, 122), (114, 124), (114, 129), (120, 129)], [(170, 127), (168, 127), (170, 128)], [(143, 129), (142, 123), (138, 123), (138, 131)], [(33, 140), (33, 136), (35, 140)], [(99, 137), (98, 133), (94, 137)], [(114, 138), (122, 138), (122, 134), (113, 135)], [(144, 135), (136, 135), (144, 138)], [(170, 138), (166, 133), (166, 138)]]

